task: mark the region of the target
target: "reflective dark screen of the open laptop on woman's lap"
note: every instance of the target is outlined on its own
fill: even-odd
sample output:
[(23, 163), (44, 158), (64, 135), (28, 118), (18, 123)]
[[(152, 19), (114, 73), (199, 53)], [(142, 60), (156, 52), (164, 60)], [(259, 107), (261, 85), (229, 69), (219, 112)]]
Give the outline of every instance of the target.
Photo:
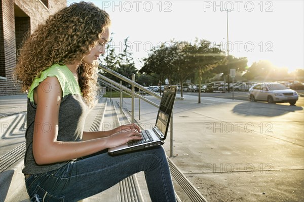
[(162, 134), (165, 135), (165, 138), (169, 128), (169, 122), (174, 106), (176, 91), (176, 86), (165, 86), (160, 103), (158, 117), (156, 119), (156, 126), (159, 128), (159, 130), (161, 130)]

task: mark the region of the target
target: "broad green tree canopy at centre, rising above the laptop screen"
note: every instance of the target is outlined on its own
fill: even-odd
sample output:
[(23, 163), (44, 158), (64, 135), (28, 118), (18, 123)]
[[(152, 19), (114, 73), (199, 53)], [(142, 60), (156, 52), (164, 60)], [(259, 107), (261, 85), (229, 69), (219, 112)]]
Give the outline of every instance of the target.
[(196, 72), (201, 83), (203, 74), (221, 64), (223, 56), (220, 49), (211, 47), (211, 43), (206, 40), (197, 44), (171, 41), (169, 47), (162, 44), (161, 47), (154, 48), (144, 59), (144, 65), (139, 72), (157, 73), (162, 83), (168, 78), (170, 83), (179, 82), (182, 88), (185, 79), (194, 77)]

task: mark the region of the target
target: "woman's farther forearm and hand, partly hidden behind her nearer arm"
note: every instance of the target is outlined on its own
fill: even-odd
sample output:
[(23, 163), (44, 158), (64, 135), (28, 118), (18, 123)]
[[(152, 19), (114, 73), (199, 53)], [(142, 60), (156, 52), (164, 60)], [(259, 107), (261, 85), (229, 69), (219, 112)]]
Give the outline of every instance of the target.
[(136, 124), (127, 124), (127, 125), (122, 125), (120, 127), (117, 127), (116, 129), (112, 129), (109, 131), (94, 131), (94, 132), (84, 131), (83, 132), (83, 141), (92, 140), (92, 139), (96, 139), (96, 138), (108, 137), (110, 135), (113, 135), (115, 133), (118, 133), (118, 132), (121, 132), (121, 131), (127, 130), (127, 129), (136, 130), (137, 132), (140, 133), (140, 128)]

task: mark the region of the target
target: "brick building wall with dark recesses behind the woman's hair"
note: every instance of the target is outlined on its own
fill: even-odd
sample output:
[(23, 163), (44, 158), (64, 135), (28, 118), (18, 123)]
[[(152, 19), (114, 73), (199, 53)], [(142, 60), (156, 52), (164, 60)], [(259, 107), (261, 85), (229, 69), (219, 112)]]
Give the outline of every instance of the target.
[(62, 0), (0, 0), (0, 95), (21, 93), (12, 73), (26, 32), (65, 6)]

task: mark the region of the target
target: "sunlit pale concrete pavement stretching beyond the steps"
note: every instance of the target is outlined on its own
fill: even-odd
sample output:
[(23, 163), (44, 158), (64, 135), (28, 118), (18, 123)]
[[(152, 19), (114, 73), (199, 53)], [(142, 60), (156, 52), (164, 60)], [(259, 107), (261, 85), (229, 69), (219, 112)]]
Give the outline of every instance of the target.
[[(208, 201), (304, 201), (303, 107), (201, 99), (176, 100), (170, 158)], [(157, 108), (140, 101), (139, 120), (135, 101), (138, 122), (154, 126)], [(123, 102), (131, 111), (131, 99)], [(18, 110), (26, 110), (25, 95), (0, 96), (0, 117)]]

